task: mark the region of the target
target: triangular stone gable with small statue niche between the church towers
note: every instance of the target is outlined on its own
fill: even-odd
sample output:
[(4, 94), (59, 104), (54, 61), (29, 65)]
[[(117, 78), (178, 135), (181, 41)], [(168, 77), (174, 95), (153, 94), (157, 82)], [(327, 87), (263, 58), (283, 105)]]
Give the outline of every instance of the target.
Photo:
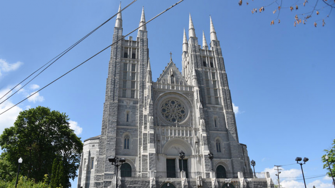
[[(171, 75), (173, 75), (173, 79), (171, 78)], [(172, 60), (169, 62), (169, 64), (167, 64), (163, 73), (160, 74), (157, 82), (187, 85), (185, 78)]]

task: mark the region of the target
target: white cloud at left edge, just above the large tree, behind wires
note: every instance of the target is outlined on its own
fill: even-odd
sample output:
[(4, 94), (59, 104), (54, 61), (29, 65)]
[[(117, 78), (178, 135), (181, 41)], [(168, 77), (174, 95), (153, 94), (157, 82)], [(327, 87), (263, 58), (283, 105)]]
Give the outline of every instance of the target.
[[(6, 88), (6, 89), (2, 89), (0, 90), (0, 96), (2, 97), (3, 95), (5, 95), (10, 89)], [(12, 92), (9, 92), (8, 94), (11, 94)], [(2, 99), (3, 101), (3, 99)], [(1, 102), (2, 102), (1, 101)], [(12, 107), (14, 104), (10, 101), (7, 100), (5, 102), (3, 102), (0, 105), (0, 113), (4, 112), (5, 110), (9, 109), (10, 107)], [(8, 128), (10, 126), (14, 125), (14, 122), (17, 118), (17, 116), (19, 115), (19, 112), (22, 111), (22, 109), (18, 106), (13, 107), (12, 109), (8, 110), (6, 113), (0, 115), (0, 134), (2, 134), (2, 131), (5, 128)]]

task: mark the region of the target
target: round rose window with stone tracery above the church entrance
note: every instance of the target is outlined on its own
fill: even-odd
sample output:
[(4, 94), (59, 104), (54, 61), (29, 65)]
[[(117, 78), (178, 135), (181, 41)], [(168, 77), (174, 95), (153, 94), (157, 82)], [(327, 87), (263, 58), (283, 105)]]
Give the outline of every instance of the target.
[(182, 122), (187, 116), (185, 105), (176, 99), (169, 99), (163, 102), (161, 113), (171, 123)]

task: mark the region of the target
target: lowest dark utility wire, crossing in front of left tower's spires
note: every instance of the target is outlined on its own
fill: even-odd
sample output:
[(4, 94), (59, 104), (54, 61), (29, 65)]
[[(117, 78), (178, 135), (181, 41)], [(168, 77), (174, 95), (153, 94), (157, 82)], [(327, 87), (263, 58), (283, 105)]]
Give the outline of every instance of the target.
[(163, 14), (164, 12), (170, 10), (172, 7), (178, 5), (179, 3), (181, 3), (184, 0), (180, 0), (177, 3), (175, 3), (174, 5), (172, 5), (171, 7), (165, 9), (164, 11), (162, 11), (161, 13), (157, 14), (155, 17), (151, 18), (149, 21), (143, 23), (142, 25), (138, 26), (136, 29), (134, 29), (132, 32), (128, 33), (127, 35), (121, 37), (119, 40), (117, 40), (116, 42), (112, 43), (111, 45), (109, 45), (108, 47), (104, 48), (103, 50), (99, 51), (98, 53), (94, 54), (93, 56), (91, 56), (90, 58), (88, 58), (87, 60), (85, 60), (84, 62), (80, 63), (79, 65), (75, 66), (74, 68), (72, 68), (71, 70), (69, 70), (68, 72), (66, 72), (65, 74), (61, 75), (60, 77), (58, 77), (57, 79), (55, 79), (54, 81), (50, 82), (49, 84), (47, 84), (46, 86), (42, 87), (41, 89), (39, 89), (38, 91), (32, 93), (30, 96), (28, 96), (27, 98), (23, 99), (22, 101), (16, 103), (14, 106), (10, 107), (9, 109), (5, 110), (4, 112), (2, 112), (0, 115), (2, 115), (3, 113), (7, 112), (8, 110), (12, 109), (13, 107), (15, 107), (16, 105), (22, 103), (23, 101), (27, 100), (29, 97), (35, 95), (37, 92), (41, 91), (42, 89), (46, 88), (47, 86), (49, 86), (50, 84), (54, 83), (55, 81), (57, 81), (58, 79), (60, 79), (61, 77), (65, 76), (66, 74), (68, 74), (69, 72), (73, 71), (74, 69), (78, 68), (80, 65), (86, 63), (88, 60), (92, 59), (93, 57), (95, 57), (96, 55), (100, 54), (101, 52), (105, 51), (106, 49), (108, 49), (109, 47), (113, 46), (114, 44), (116, 44), (117, 42), (121, 41), (122, 39), (124, 39), (125, 37), (127, 37), (128, 35), (132, 34), (134, 31), (136, 31), (137, 29), (139, 29), (140, 27), (142, 27), (143, 25), (146, 25), (147, 23), (149, 23), (150, 21), (152, 21), (153, 19), (155, 19), (156, 17), (160, 16), (161, 14)]

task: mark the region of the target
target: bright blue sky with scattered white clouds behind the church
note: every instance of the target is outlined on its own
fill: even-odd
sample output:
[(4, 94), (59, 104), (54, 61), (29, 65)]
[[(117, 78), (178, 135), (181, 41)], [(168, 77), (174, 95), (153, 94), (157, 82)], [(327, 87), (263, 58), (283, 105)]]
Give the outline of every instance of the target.
[[(130, 2), (123, 1), (122, 7)], [(148, 20), (176, 2), (138, 0), (122, 13), (123, 34), (138, 26), (142, 6)], [(189, 12), (199, 41), (204, 30), (208, 44), (212, 16), (232, 101), (238, 107), (235, 112), (240, 142), (247, 144), (256, 171), (267, 170), (273, 179), (273, 166), (293, 164), (296, 156), (310, 159), (303, 166), (305, 176), (326, 174), (321, 156), (335, 139), (334, 12), (322, 27), (322, 18), (330, 8), (322, 8), (320, 1), (320, 15), (314, 12), (307, 24), (293, 26), (295, 14), (311, 11), (315, 2), (310, 0), (306, 7), (299, 4), (299, 9), (292, 12), (281, 9), (280, 23), (276, 20), (270, 25), (277, 17), (278, 12), (272, 12), (276, 4), (252, 14), (253, 8), (267, 5), (265, 1), (254, 0), (249, 5), (244, 1), (239, 6), (237, 0), (185, 0), (147, 25), (155, 81), (169, 62), (170, 51), (181, 70), (183, 28), (188, 29)], [(290, 6), (288, 3), (283, 1), (282, 7)], [(0, 94), (111, 17), (118, 5), (119, 1), (105, 0), (1, 1)], [(313, 25), (315, 20), (319, 20), (317, 27)], [(0, 112), (110, 45), (114, 24), (115, 19), (63, 56), (0, 105)], [(136, 35), (134, 32), (131, 36)], [(82, 140), (99, 135), (109, 56), (110, 49), (42, 90), (39, 96), (1, 115), (0, 132), (12, 125), (19, 111), (41, 105), (66, 112)], [(302, 176), (297, 164), (282, 169), (282, 177)], [(299, 179), (283, 178), (283, 185), (304, 187)], [(332, 187), (331, 179), (325, 177), (306, 182), (308, 187)]]

